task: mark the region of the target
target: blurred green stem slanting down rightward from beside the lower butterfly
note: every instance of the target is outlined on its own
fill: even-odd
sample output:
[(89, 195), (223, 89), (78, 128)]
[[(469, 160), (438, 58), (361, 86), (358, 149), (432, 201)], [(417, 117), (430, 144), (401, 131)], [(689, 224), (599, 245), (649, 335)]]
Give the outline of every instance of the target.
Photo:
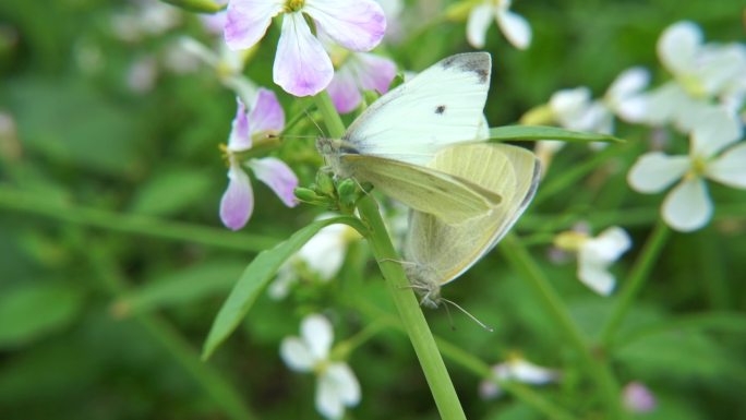
[(605, 363), (600, 362), (593, 357), (585, 335), (573, 322), (564, 302), (560, 299), (560, 296), (552, 288), (549, 279), (536, 264), (526, 248), (514, 235), (507, 235), (501, 243), (500, 250), (513, 268), (533, 289), (543, 307), (552, 315), (552, 320), (560, 327), (566, 341), (575, 348), (587, 373), (597, 383), (602, 394), (607, 409), (607, 418), (625, 418), (626, 416), (619, 406), (619, 387), (614, 375)]

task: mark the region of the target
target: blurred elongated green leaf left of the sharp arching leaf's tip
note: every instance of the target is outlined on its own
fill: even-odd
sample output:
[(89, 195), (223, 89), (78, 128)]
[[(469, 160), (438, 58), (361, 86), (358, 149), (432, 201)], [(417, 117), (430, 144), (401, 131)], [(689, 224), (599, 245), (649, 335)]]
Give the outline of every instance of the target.
[(207, 296), (229, 290), (245, 263), (212, 261), (145, 283), (129, 291), (115, 305), (120, 316), (193, 303)]

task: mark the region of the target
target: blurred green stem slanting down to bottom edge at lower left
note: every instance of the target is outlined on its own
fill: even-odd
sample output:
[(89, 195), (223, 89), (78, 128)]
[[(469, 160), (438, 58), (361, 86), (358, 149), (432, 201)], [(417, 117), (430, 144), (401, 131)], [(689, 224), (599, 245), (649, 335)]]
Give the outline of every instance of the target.
[[(106, 248), (91, 247), (86, 243), (85, 252), (108, 291), (115, 297), (122, 296), (128, 289), (127, 281)], [(166, 320), (154, 314), (139, 314), (134, 316), (134, 320), (181, 364), (228, 418), (234, 420), (256, 418), (249, 410), (240, 394), (234, 391), (233, 385), (217, 371), (203, 363), (197, 352)]]

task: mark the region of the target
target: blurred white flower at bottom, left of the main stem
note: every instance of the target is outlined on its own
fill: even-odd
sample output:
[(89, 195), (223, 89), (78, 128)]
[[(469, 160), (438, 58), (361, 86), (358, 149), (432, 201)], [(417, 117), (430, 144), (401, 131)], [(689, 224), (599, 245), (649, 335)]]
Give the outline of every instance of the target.
[(329, 360), (333, 340), (326, 317), (309, 315), (301, 323), (301, 337), (282, 340), (280, 356), (290, 369), (316, 374), (316, 410), (327, 419), (341, 419), (345, 407), (360, 403), (360, 384), (347, 363)]

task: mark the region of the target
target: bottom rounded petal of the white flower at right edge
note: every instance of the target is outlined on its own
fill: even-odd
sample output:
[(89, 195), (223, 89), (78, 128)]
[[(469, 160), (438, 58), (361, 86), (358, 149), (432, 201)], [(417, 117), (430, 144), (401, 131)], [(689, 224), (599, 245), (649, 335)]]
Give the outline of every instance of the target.
[(663, 219), (672, 228), (688, 232), (705, 227), (712, 217), (712, 202), (701, 179), (684, 180), (663, 202)]

